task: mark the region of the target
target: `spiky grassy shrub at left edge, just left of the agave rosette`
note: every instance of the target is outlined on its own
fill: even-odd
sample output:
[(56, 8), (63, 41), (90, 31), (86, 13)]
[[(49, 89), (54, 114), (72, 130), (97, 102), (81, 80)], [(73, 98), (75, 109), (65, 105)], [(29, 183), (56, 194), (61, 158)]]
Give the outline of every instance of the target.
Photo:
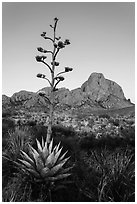
[(27, 151), (28, 144), (31, 144), (31, 134), (27, 127), (16, 127), (8, 132), (7, 147), (3, 151), (2, 178), (5, 186), (8, 180), (17, 173), (16, 162), (20, 159), (21, 150)]

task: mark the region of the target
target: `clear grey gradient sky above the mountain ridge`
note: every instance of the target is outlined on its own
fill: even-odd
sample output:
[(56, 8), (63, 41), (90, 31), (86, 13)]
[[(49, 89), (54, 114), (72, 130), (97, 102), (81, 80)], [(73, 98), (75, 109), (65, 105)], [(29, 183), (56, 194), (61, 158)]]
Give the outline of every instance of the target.
[(37, 47), (52, 48), (40, 34), (52, 36), (49, 25), (57, 17), (57, 35), (71, 42), (60, 51), (57, 69), (73, 68), (59, 87), (78, 88), (98, 72), (118, 83), (125, 97), (135, 102), (134, 10), (134, 2), (3, 2), (2, 94), (49, 86), (36, 77), (50, 73), (35, 56), (41, 54)]

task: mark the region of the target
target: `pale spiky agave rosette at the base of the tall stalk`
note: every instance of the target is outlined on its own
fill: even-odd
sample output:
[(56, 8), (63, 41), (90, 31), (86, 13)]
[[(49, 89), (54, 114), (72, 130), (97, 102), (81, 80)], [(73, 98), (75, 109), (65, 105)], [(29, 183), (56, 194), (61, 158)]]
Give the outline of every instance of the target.
[(38, 182), (56, 181), (70, 176), (68, 171), (72, 167), (63, 168), (64, 164), (70, 157), (65, 158), (67, 151), (61, 155), (63, 147), (60, 143), (53, 147), (53, 139), (49, 145), (44, 142), (42, 144), (36, 139), (37, 150), (29, 145), (29, 153), (21, 150), (22, 159), (19, 159), (18, 164), (22, 170), (35, 178)]

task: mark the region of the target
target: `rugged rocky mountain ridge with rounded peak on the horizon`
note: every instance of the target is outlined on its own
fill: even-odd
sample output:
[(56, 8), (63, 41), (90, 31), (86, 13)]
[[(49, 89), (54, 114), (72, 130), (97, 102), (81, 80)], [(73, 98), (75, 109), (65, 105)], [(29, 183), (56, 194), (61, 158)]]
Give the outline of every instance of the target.
[[(39, 91), (44, 91), (47, 97), (50, 95), (49, 87)], [(12, 97), (3, 95), (3, 106), (8, 103), (26, 109), (45, 106), (48, 108), (48, 101), (39, 96), (38, 92), (20, 91), (14, 93)], [(55, 102), (58, 109), (61, 107), (117, 109), (134, 105), (125, 98), (122, 88), (116, 82), (105, 79), (102, 73), (92, 73), (80, 88), (72, 91), (60, 88), (55, 92)]]

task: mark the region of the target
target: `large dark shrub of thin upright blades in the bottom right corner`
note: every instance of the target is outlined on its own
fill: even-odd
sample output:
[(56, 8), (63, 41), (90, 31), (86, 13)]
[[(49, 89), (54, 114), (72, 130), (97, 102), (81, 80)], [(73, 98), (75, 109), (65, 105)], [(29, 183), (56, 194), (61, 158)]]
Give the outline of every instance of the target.
[(75, 183), (90, 202), (134, 202), (134, 155), (121, 149), (81, 152)]

